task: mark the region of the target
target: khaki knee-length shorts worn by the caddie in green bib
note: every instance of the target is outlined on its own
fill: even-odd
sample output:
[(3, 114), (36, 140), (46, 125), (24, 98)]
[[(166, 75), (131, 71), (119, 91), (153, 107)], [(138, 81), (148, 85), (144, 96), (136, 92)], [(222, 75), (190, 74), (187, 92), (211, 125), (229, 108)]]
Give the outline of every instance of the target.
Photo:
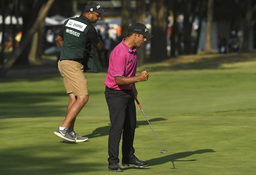
[(58, 62), (58, 69), (64, 78), (67, 94), (88, 95), (87, 79), (84, 76), (82, 64), (76, 61), (62, 60)]

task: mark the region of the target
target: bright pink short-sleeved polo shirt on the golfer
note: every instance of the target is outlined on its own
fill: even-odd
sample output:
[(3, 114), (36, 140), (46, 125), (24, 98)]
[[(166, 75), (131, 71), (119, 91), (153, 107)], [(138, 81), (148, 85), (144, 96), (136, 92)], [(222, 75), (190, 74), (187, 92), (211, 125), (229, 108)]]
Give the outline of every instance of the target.
[[(125, 38), (124, 38), (125, 39)], [(115, 76), (134, 77), (137, 69), (136, 48), (129, 48), (124, 39), (111, 52), (105, 85), (110, 89), (131, 90), (132, 84), (117, 85)]]

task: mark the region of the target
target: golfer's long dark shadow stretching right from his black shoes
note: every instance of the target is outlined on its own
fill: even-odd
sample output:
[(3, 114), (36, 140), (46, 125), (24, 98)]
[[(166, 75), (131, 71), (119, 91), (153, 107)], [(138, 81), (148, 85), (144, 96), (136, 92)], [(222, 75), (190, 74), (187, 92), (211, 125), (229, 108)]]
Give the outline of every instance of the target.
[(190, 161), (196, 161), (196, 159), (190, 159), (190, 160), (177, 160), (177, 159), (182, 159), (182, 158), (187, 158), (189, 156), (192, 156), (194, 154), (202, 154), (202, 153), (207, 153), (207, 152), (216, 152), (213, 149), (199, 149), (196, 151), (186, 151), (186, 152), (179, 152), (179, 153), (174, 153), (171, 155), (163, 156), (160, 158), (154, 158), (147, 160), (146, 162), (148, 163), (149, 166), (154, 166), (154, 165), (159, 165), (159, 164), (164, 164), (167, 162), (172, 162), (173, 167), (176, 168), (174, 165), (174, 162), (190, 162)]

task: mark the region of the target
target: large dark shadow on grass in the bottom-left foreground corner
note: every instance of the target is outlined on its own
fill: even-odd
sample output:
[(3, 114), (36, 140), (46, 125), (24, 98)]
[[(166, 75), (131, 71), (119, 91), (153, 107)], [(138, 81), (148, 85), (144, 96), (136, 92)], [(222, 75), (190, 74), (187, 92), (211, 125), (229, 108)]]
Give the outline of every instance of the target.
[[(71, 145), (72, 146), (72, 145)], [(67, 147), (67, 144), (64, 146)], [(74, 148), (70, 148), (74, 149)], [(62, 149), (61, 149), (62, 150)], [(48, 147), (23, 147), (5, 149), (0, 152), (2, 158), (0, 160), (1, 174), (12, 175), (60, 175), (75, 173), (93, 173), (99, 171), (100, 163), (77, 162), (76, 155), (73, 151), (66, 151), (58, 156), (60, 151), (53, 145)], [(86, 151), (84, 156), (93, 156), (93, 152)], [(107, 171), (107, 170), (106, 170)]]

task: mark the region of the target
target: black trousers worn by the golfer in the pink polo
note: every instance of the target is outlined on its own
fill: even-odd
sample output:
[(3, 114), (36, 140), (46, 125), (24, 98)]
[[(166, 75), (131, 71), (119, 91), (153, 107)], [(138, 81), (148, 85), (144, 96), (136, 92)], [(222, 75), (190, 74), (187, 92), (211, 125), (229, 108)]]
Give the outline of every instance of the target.
[(122, 162), (135, 159), (133, 139), (136, 128), (136, 108), (132, 90), (114, 90), (106, 86), (105, 98), (109, 107), (111, 128), (109, 130), (109, 164), (119, 163), (119, 144), (123, 132)]

